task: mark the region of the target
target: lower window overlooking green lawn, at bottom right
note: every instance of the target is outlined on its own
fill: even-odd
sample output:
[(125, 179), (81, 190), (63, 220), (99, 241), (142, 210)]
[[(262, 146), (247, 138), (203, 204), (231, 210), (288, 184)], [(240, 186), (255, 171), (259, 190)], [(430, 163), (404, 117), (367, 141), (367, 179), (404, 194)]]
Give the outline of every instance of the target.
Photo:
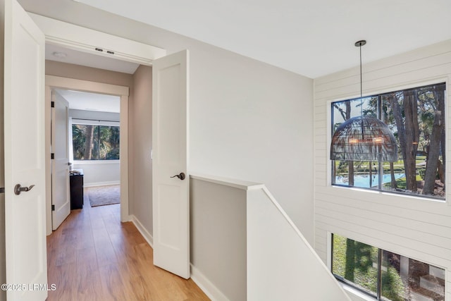
[(335, 278), (377, 300), (445, 300), (445, 269), (333, 234)]

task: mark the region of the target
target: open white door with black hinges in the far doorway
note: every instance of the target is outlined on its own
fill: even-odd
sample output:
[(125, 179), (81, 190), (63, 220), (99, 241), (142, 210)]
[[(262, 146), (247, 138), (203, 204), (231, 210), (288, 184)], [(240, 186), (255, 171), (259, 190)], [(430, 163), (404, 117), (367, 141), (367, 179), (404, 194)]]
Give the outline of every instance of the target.
[(51, 224), (53, 230), (70, 214), (69, 198), (69, 103), (52, 90), (51, 99)]

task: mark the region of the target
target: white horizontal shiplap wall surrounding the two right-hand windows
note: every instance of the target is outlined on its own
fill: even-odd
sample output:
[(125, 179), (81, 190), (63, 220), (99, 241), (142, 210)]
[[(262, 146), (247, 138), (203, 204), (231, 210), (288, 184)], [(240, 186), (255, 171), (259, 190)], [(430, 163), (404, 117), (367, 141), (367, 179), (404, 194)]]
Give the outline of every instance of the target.
[(359, 68), (314, 80), (315, 249), (330, 264), (330, 235), (446, 269), (451, 300), (451, 40), (363, 66), (363, 94), (446, 82), (447, 202), (330, 185), (330, 102), (358, 97)]

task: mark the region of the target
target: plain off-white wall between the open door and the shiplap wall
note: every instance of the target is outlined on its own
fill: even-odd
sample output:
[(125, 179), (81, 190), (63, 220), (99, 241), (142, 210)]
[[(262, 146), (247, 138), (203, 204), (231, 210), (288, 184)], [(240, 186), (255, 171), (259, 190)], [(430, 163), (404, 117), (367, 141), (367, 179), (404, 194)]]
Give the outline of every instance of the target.
[(266, 184), (313, 241), (311, 79), (75, 1), (48, 3), (20, 1), (27, 11), (152, 44), (168, 54), (190, 49), (191, 170)]

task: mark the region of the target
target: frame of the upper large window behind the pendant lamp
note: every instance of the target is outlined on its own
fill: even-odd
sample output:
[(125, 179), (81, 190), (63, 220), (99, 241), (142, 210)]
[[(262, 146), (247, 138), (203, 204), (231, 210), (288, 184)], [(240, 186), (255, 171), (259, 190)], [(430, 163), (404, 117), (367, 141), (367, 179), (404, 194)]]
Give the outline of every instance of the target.
[[(378, 107), (377, 107), (377, 113), (376, 113), (376, 117), (383, 121), (383, 114), (382, 114), (382, 106), (383, 106), (383, 95), (385, 94), (390, 94), (390, 93), (396, 93), (396, 92), (404, 92), (404, 91), (410, 91), (410, 90), (418, 90), (424, 87), (430, 87), (430, 86), (434, 86), (434, 85), (444, 85), (445, 87), (445, 136), (448, 137), (447, 134), (447, 110), (448, 110), (448, 106), (447, 106), (447, 81), (446, 80), (438, 80), (438, 81), (433, 81), (433, 82), (427, 82), (424, 84), (417, 84), (417, 85), (413, 85), (412, 87), (404, 87), (404, 88), (400, 88), (400, 89), (390, 89), (386, 92), (377, 92), (377, 93), (373, 93), (373, 94), (369, 94), (369, 95), (365, 95), (362, 97), (353, 97), (353, 98), (345, 98), (345, 99), (337, 99), (337, 100), (332, 100), (331, 102), (328, 102), (328, 107), (330, 109), (330, 113), (328, 114), (328, 118), (329, 119), (329, 123), (330, 123), (330, 134), (328, 135), (328, 151), (330, 150), (330, 141), (333, 137), (333, 134), (335, 133), (334, 130), (334, 104), (338, 104), (338, 103), (345, 103), (345, 102), (352, 102), (352, 101), (357, 101), (360, 99), (371, 99), (371, 97), (377, 97), (377, 103), (378, 103)], [(445, 139), (445, 141), (447, 142), (447, 139)], [(447, 154), (447, 145), (445, 145), (445, 154)], [(330, 154), (328, 154), (328, 156), (330, 156)], [(402, 158), (402, 160), (404, 160), (404, 158)], [(400, 191), (396, 191), (396, 190), (383, 190), (382, 186), (382, 180), (381, 178), (383, 175), (383, 162), (378, 161), (377, 162), (377, 166), (378, 166), (378, 188), (366, 188), (366, 187), (359, 187), (359, 186), (350, 186), (350, 185), (345, 185), (345, 184), (340, 184), (340, 183), (334, 183), (335, 182), (335, 162), (337, 160), (328, 160), (329, 161), (329, 168), (328, 168), (328, 173), (330, 173), (330, 186), (331, 187), (339, 187), (339, 188), (347, 188), (347, 189), (358, 189), (358, 190), (364, 190), (366, 192), (378, 192), (378, 193), (383, 193), (383, 194), (393, 194), (393, 195), (399, 195), (399, 196), (404, 196), (404, 197), (418, 197), (419, 199), (423, 199), (423, 200), (427, 200), (427, 201), (437, 201), (437, 202), (447, 202), (447, 194), (445, 194), (444, 197), (438, 197), (435, 195), (422, 195), (422, 194), (415, 194), (415, 193), (407, 193), (407, 192), (400, 192)], [(376, 163), (376, 162), (375, 162)], [(445, 175), (447, 174), (447, 170), (448, 168), (446, 168), (445, 170)], [(445, 178), (445, 187), (447, 186), (447, 177)]]

